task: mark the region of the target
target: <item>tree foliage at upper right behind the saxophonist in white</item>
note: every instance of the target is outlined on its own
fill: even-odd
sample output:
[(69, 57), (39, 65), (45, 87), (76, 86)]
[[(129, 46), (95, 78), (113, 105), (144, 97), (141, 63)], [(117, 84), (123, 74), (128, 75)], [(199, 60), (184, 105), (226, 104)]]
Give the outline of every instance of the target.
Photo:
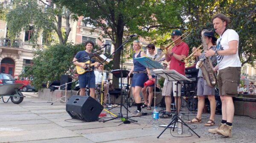
[[(253, 64), (256, 59), (256, 1), (255, 0), (180, 0), (176, 5), (183, 5), (182, 17), (187, 17), (186, 27), (190, 31), (186, 39), (188, 45), (201, 45), (201, 31), (213, 29), (211, 18), (217, 13), (226, 14), (231, 23), (228, 28), (239, 34), (239, 57), (242, 65)], [(216, 34), (218, 37), (218, 35)], [(246, 53), (246, 59), (242, 57)]]

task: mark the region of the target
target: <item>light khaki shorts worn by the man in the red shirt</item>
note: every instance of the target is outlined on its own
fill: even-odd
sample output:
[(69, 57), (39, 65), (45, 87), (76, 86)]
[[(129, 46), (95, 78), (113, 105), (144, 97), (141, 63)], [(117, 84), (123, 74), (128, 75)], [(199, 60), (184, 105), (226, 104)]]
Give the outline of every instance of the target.
[[(172, 91), (174, 91), (173, 95), (177, 96), (176, 95), (177, 86), (175, 83), (177, 83), (177, 81), (164, 80), (162, 95), (163, 96), (171, 96)], [(180, 94), (181, 94), (181, 85), (182, 85), (182, 82), (181, 82), (181, 84), (178, 84), (178, 96), (180, 96)]]

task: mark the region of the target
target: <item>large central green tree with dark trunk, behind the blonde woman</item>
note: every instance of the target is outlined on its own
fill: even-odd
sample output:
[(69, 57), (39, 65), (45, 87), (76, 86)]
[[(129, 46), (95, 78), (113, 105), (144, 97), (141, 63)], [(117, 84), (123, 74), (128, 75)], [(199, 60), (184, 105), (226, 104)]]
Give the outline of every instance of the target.
[[(53, 0), (66, 6), (84, 22), (95, 28), (101, 28), (103, 37), (110, 37), (115, 50), (122, 44), (123, 37), (133, 32), (140, 36), (155, 36), (178, 28), (179, 6), (173, 7), (172, 0)], [(158, 31), (157, 29), (161, 29)], [(159, 33), (160, 32), (160, 33)], [(113, 56), (113, 63), (120, 63), (121, 51)], [(113, 64), (113, 69), (119, 69)], [(113, 77), (113, 84), (118, 87), (118, 79)]]

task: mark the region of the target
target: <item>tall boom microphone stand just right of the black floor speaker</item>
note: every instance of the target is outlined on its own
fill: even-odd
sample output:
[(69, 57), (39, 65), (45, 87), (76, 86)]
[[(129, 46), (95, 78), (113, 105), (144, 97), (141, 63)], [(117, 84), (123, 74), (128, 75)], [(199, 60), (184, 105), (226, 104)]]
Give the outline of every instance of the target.
[(118, 116), (115, 117), (115, 118), (111, 118), (109, 120), (105, 120), (103, 121), (103, 123), (107, 122), (107, 121), (111, 121), (111, 120), (114, 120), (114, 119), (117, 119), (117, 118), (125, 118), (125, 121), (123, 121), (123, 123), (130, 123), (130, 121), (128, 120), (131, 120), (133, 122), (138, 122), (136, 120), (132, 120), (132, 119), (128, 119), (126, 117), (123, 117), (122, 115), (122, 101), (123, 101), (123, 95), (122, 95), (122, 67), (123, 67), (123, 64), (122, 64), (122, 60), (123, 60), (123, 46), (132, 39), (132, 36), (129, 36), (128, 38), (125, 39), (125, 42), (122, 43), (122, 45), (119, 46), (119, 48), (117, 48), (110, 56), (108, 56), (104, 61), (102, 61), (100, 64), (102, 64), (103, 62), (105, 62), (109, 57), (111, 57), (114, 53), (116, 53), (116, 51), (120, 50), (121, 49), (121, 92), (120, 92), (120, 96), (121, 96), (121, 105), (120, 105), (120, 112), (118, 113)]

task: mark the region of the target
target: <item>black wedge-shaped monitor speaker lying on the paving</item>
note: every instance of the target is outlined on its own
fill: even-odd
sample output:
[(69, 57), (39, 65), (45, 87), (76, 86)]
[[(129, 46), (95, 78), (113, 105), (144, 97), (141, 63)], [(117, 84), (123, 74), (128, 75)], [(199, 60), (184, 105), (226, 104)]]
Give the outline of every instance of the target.
[(102, 110), (102, 105), (90, 96), (72, 95), (66, 105), (66, 111), (72, 118), (87, 122), (98, 120)]

